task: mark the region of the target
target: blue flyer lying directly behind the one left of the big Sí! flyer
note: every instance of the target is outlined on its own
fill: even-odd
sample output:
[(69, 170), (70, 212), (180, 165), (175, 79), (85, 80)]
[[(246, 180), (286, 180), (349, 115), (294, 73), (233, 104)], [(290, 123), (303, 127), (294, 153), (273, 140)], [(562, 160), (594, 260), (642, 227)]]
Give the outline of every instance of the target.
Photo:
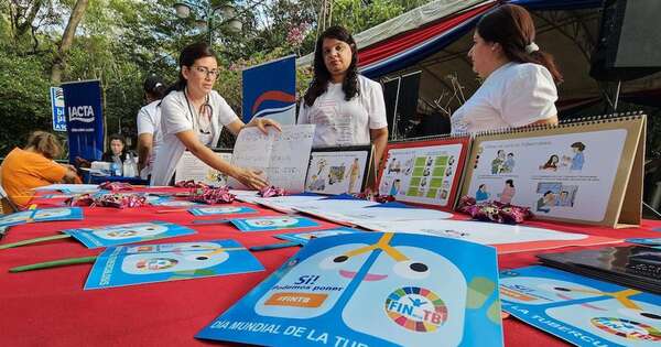
[(100, 248), (193, 235), (195, 230), (166, 221), (145, 221), (67, 229), (62, 232), (75, 237), (87, 248)]

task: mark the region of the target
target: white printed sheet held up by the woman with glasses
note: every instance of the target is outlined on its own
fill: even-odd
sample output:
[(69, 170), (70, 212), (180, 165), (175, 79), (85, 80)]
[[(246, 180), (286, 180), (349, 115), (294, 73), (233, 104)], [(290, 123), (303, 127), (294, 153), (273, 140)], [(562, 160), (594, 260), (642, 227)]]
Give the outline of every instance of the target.
[[(289, 193), (302, 193), (310, 162), (314, 124), (283, 126), (282, 131), (268, 128), (269, 134), (251, 127), (239, 132), (232, 164), (261, 171), (271, 185)], [(245, 188), (230, 178), (235, 188)]]

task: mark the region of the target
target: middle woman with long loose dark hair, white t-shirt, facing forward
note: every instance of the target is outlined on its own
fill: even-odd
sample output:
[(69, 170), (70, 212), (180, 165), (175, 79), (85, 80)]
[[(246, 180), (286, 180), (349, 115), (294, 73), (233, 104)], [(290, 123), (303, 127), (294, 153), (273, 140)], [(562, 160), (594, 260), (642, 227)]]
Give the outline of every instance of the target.
[(314, 147), (375, 144), (379, 163), (388, 143), (383, 90), (358, 75), (358, 48), (342, 26), (328, 28), (316, 42), (314, 78), (299, 123), (316, 124)]

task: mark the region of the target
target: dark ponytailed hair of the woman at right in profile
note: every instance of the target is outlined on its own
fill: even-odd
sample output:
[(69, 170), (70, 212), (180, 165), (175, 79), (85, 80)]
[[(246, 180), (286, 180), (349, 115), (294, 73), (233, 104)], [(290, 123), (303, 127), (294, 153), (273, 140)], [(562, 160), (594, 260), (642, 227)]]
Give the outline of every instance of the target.
[(540, 64), (562, 83), (562, 74), (553, 56), (537, 50), (528, 53), (525, 47), (534, 43), (534, 22), (530, 13), (516, 4), (503, 4), (485, 14), (477, 23), (477, 33), (487, 42), (499, 43), (502, 52), (511, 62)]

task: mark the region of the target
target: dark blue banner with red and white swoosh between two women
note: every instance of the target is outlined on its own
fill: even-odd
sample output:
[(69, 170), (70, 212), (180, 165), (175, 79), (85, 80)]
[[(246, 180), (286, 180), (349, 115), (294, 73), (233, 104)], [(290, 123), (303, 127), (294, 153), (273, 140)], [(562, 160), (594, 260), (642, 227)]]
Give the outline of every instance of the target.
[(296, 56), (243, 69), (243, 122), (253, 117), (296, 123)]

